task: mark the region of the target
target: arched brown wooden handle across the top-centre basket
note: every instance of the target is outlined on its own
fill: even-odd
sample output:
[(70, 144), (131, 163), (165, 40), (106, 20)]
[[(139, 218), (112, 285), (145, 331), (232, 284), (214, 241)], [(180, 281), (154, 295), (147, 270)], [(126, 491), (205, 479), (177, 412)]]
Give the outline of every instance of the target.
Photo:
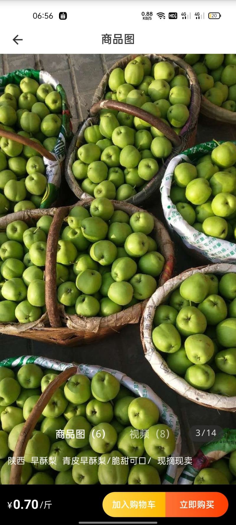
[(117, 111), (129, 113), (134, 117), (138, 117), (139, 119), (145, 120), (145, 122), (151, 124), (151, 126), (157, 128), (159, 131), (164, 133), (165, 137), (169, 139), (173, 146), (175, 146), (176, 148), (178, 148), (182, 144), (179, 135), (177, 135), (177, 133), (172, 128), (170, 128), (165, 122), (163, 122), (163, 120), (158, 119), (158, 117), (155, 117), (151, 113), (148, 113), (147, 111), (144, 111), (141, 108), (136, 108), (136, 106), (132, 106), (132, 104), (117, 102), (116, 100), (99, 100), (99, 102), (95, 102), (95, 104), (93, 104), (93, 106), (91, 107), (91, 116), (95, 117), (101, 109), (115, 109)]

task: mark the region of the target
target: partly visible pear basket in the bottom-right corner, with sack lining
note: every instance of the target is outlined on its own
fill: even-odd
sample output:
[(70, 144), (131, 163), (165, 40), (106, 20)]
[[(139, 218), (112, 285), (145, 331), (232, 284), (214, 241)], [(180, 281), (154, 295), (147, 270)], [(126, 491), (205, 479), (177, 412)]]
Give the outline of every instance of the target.
[(224, 428), (211, 442), (205, 443), (178, 479), (178, 485), (235, 485), (236, 430)]

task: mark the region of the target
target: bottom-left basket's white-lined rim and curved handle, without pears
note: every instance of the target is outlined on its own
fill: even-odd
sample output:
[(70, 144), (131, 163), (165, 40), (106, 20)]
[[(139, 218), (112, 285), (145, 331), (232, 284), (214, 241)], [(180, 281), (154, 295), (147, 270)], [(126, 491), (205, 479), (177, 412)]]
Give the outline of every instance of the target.
[[(47, 359), (44, 357), (36, 357), (36, 356), (22, 356), (20, 358), (9, 358), (5, 359), (4, 361), (0, 362), (0, 366), (7, 366), (7, 367), (19, 367), (26, 363), (35, 363), (42, 367), (42, 369), (51, 369), (56, 370), (60, 372), (59, 375), (57, 375), (56, 379), (53, 380), (49, 385), (47, 386), (46, 390), (41, 394), (39, 400), (37, 401), (36, 405), (34, 406), (33, 410), (31, 411), (29, 417), (27, 418), (25, 425), (22, 429), (22, 432), (20, 433), (17, 444), (14, 451), (14, 457), (24, 457), (25, 455), (25, 449), (28, 443), (28, 440), (39, 420), (40, 415), (42, 414), (42, 411), (44, 410), (47, 403), (50, 401), (50, 398), (52, 394), (59, 388), (65, 381), (69, 379), (74, 374), (83, 374), (87, 375), (89, 379), (92, 379), (92, 377), (96, 374), (96, 372), (99, 372), (101, 370), (105, 370), (107, 372), (110, 372), (113, 376), (116, 377), (116, 379), (120, 382), (121, 385), (125, 386), (132, 392), (132, 394), (138, 396), (138, 397), (147, 397), (148, 399), (151, 399), (156, 406), (159, 409), (160, 414), (160, 422), (165, 423), (168, 425), (175, 434), (176, 439), (176, 447), (171, 454), (172, 458), (179, 457), (180, 450), (181, 450), (181, 435), (180, 435), (180, 426), (179, 421), (173, 410), (160, 399), (160, 397), (157, 396), (153, 392), (153, 390), (143, 383), (138, 383), (137, 381), (134, 381), (131, 379), (131, 377), (128, 377), (122, 372), (119, 372), (117, 370), (111, 370), (108, 368), (103, 368), (101, 366), (97, 365), (83, 365), (83, 364), (75, 364), (75, 363), (63, 363), (60, 361), (55, 361), (51, 359)], [(76, 454), (75, 454), (76, 455)], [(174, 464), (169, 464), (167, 467), (166, 475), (164, 477), (164, 480), (162, 482), (163, 485), (172, 485), (175, 481), (177, 472), (177, 463), (174, 459)], [(22, 465), (16, 463), (12, 464), (11, 472), (10, 472), (10, 485), (20, 485), (20, 477), (22, 473)]]

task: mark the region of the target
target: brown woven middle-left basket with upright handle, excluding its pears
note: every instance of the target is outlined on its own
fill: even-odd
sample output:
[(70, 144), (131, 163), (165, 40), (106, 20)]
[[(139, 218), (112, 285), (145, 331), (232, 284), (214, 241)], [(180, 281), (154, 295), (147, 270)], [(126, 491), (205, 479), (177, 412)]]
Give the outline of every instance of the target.
[[(89, 208), (91, 202), (92, 199), (90, 198), (87, 199), (87, 201), (79, 202), (76, 206), (86, 206)], [(128, 213), (128, 215), (132, 215), (140, 209), (128, 203), (118, 203), (115, 201), (113, 201), (113, 205), (115, 209), (122, 209)], [(74, 346), (100, 340), (106, 337), (106, 335), (119, 332), (126, 324), (134, 324), (140, 321), (146, 301), (137, 303), (126, 310), (104, 318), (72, 316), (65, 312), (62, 304), (58, 304), (56, 286), (57, 244), (63, 220), (69, 214), (72, 207), (73, 206), (49, 208), (48, 210), (33, 209), (8, 214), (0, 218), (0, 231), (4, 231), (7, 225), (13, 222), (13, 220), (24, 220), (27, 224), (35, 225), (42, 215), (53, 216), (47, 239), (45, 266), (47, 313), (35, 323), (2, 323), (0, 324), (0, 333), (18, 335), (19, 337), (47, 343)], [(165, 258), (164, 269), (159, 278), (159, 285), (162, 286), (164, 282), (173, 275), (175, 265), (174, 246), (166, 228), (156, 217), (154, 217), (154, 223), (154, 237), (158, 250)]]

